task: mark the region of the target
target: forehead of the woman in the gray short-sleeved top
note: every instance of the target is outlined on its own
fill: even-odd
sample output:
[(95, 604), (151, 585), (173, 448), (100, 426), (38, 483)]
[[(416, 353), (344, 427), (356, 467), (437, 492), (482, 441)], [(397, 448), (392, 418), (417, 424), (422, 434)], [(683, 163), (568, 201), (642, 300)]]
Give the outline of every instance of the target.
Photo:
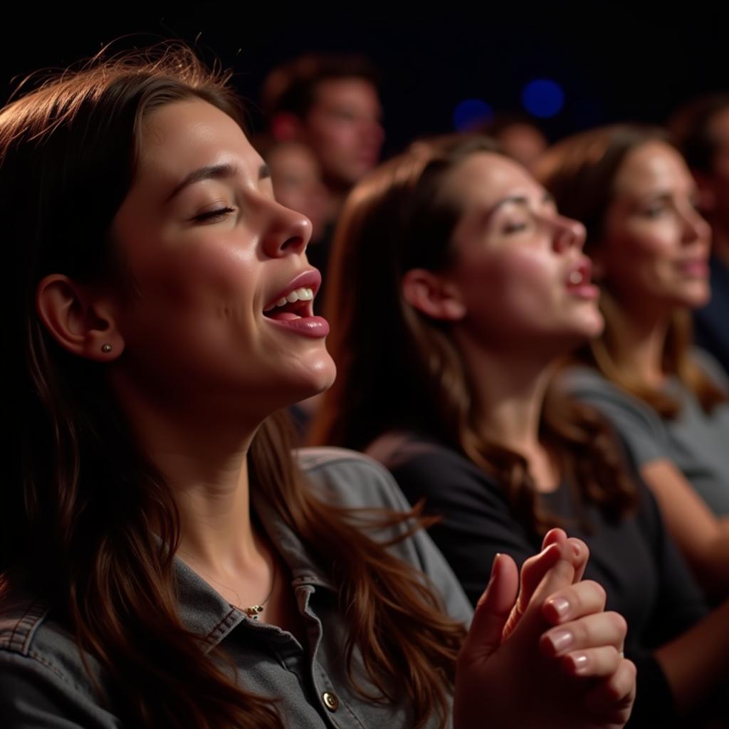
[(673, 147), (649, 141), (625, 157), (615, 178), (615, 190), (618, 194), (640, 195), (658, 187), (693, 187), (693, 179)]

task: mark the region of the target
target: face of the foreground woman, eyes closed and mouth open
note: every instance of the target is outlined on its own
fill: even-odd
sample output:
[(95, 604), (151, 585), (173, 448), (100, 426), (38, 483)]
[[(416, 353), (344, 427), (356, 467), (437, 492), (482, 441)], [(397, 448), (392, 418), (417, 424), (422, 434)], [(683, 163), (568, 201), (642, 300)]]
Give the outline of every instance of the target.
[(236, 122), (204, 101), (150, 113), (112, 235), (133, 279), (117, 372), (141, 397), (265, 417), (326, 388), (311, 224), (281, 206)]

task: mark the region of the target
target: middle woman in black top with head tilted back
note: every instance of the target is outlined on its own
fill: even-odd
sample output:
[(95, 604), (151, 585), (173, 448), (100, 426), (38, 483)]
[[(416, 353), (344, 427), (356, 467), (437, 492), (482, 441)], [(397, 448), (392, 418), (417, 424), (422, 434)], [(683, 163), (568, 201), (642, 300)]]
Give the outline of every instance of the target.
[(495, 553), (521, 562), (569, 525), (628, 620), (635, 723), (667, 726), (690, 721), (726, 674), (729, 605), (702, 620), (607, 422), (552, 386), (564, 355), (603, 325), (584, 240), (488, 140), (422, 141), (382, 165), (351, 193), (335, 237), (325, 311), (338, 379), (314, 437), (366, 450), (411, 502), (425, 497), (473, 602)]

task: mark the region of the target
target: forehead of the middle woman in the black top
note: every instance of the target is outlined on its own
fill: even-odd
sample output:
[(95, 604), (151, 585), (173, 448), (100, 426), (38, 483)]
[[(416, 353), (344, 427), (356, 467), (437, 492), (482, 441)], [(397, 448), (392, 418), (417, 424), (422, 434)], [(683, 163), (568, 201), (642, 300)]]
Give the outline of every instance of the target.
[(476, 152), (446, 179), (456, 199), (493, 205), (512, 195), (544, 195), (542, 186), (520, 164), (495, 152)]

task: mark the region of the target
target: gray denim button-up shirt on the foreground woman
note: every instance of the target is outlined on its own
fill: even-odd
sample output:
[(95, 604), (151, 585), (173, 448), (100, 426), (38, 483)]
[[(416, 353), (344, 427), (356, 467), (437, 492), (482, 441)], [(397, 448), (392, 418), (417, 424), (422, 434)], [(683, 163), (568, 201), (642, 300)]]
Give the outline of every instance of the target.
[[(298, 458), (313, 488), (327, 502), (346, 507), (408, 509), (391, 476), (374, 461), (338, 448), (309, 448)], [(187, 628), (218, 644), (233, 660), (238, 682), (276, 699), (284, 725), (300, 729), (410, 727), (405, 703), (374, 703), (356, 693), (343, 646), (348, 627), (337, 594), (305, 552), (300, 539), (262, 497), (252, 494), (260, 522), (292, 574), (306, 645), (275, 625), (251, 620), (231, 607), (205, 580), (176, 558), (179, 612)], [(389, 527), (375, 539), (394, 537)], [(390, 547), (421, 569), (443, 597), (445, 612), (468, 623), (471, 607), (443, 556), (421, 530)], [(92, 656), (90, 671), (104, 688), (109, 679)], [(355, 676), (371, 683), (355, 650)], [(432, 717), (428, 726), (437, 726)], [(0, 604), (0, 727), (3, 729), (112, 729), (122, 726), (113, 707), (99, 703), (73, 636), (39, 601), (10, 596)]]

